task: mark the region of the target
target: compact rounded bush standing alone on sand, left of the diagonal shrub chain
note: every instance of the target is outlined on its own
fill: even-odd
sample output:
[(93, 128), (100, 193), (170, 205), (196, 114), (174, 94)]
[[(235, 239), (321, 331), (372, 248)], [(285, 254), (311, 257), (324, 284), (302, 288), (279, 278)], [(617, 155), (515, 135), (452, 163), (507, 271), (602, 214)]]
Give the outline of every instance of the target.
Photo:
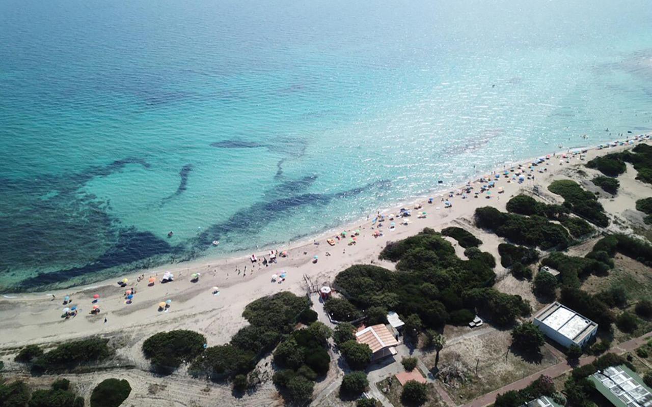
[(182, 361), (191, 361), (203, 352), (206, 338), (201, 333), (175, 330), (155, 333), (143, 343), (143, 354), (152, 368), (160, 373), (171, 373)]

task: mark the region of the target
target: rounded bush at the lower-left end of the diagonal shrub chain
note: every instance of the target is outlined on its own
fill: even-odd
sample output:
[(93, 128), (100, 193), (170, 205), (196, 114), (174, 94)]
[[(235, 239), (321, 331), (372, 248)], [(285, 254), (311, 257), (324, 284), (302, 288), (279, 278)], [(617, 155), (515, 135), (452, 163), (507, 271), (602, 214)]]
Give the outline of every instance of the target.
[(198, 355), (188, 368), (192, 376), (233, 377), (253, 369), (255, 355), (231, 344), (211, 346)]

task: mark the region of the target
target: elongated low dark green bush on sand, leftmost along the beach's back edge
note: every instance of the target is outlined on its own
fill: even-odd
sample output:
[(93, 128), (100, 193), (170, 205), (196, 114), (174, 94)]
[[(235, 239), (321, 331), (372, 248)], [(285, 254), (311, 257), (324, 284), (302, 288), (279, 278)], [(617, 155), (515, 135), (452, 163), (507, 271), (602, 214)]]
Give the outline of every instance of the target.
[(60, 344), (39, 356), (34, 361), (32, 369), (36, 372), (63, 371), (72, 369), (80, 363), (106, 359), (111, 355), (108, 342), (108, 339), (91, 337)]

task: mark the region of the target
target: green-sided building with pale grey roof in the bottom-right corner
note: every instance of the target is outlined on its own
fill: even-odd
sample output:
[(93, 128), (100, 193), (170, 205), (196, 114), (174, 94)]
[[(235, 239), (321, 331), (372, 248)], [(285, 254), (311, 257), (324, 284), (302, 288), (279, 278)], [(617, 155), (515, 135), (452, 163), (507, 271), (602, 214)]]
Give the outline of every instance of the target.
[(627, 366), (612, 366), (589, 377), (615, 407), (651, 407), (652, 390)]

